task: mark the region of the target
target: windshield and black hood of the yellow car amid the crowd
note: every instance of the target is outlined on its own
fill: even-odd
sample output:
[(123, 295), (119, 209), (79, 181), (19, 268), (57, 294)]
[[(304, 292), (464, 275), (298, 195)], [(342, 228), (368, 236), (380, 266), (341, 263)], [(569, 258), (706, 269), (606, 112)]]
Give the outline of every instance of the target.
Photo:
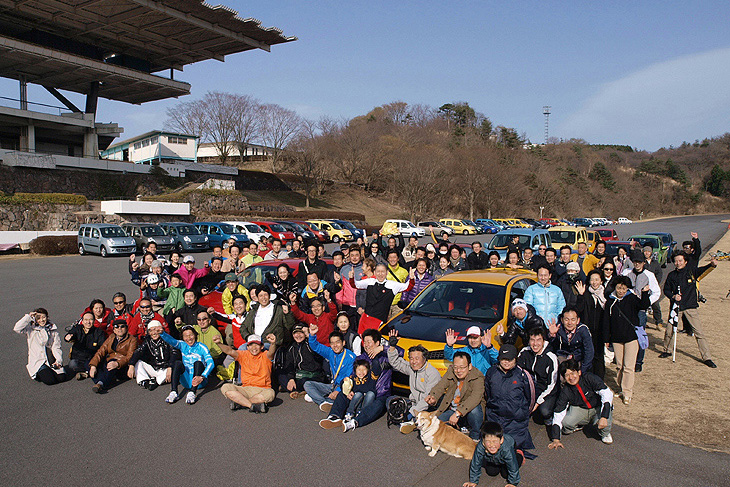
[[(428, 341), (443, 341), (452, 320), (477, 321), (493, 325), (504, 313), (505, 288), (481, 282), (435, 281), (423, 291), (405, 314), (431, 316), (428, 326), (423, 321), (396, 321), (401, 336)], [(468, 323), (465, 324), (468, 326)]]

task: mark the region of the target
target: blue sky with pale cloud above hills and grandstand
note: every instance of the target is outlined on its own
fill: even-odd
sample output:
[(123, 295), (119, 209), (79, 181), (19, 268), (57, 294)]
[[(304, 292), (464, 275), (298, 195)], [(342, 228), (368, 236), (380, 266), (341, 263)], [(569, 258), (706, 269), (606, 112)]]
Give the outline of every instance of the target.
[[(551, 105), (551, 136), (647, 150), (730, 131), (726, 2), (222, 3), (299, 40), (186, 66), (181, 100), (230, 91), (345, 119), (395, 100), (467, 101), (533, 142)], [(176, 102), (102, 101), (98, 119), (126, 138), (161, 128)]]

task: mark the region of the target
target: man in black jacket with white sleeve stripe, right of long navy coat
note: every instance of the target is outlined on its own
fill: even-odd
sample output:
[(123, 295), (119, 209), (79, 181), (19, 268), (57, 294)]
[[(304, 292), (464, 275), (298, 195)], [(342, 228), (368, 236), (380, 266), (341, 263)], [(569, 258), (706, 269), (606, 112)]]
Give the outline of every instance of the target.
[(552, 424), (555, 400), (558, 397), (558, 357), (550, 351), (547, 331), (544, 326), (531, 328), (527, 334), (529, 345), (520, 351), (517, 365), (532, 375), (535, 381), (535, 405), (531, 412), (537, 412), (546, 425)]

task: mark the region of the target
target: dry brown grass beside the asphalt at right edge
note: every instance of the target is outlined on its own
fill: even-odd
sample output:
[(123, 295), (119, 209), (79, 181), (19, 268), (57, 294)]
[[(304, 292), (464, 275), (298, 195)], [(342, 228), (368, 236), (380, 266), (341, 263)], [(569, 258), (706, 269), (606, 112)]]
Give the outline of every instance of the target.
[[(730, 250), (730, 232), (713, 247)], [(709, 262), (704, 259), (701, 265)], [(700, 305), (702, 325), (717, 369), (700, 361), (697, 341), (680, 333), (677, 338), (677, 361), (660, 359), (664, 331), (647, 330), (649, 349), (644, 371), (637, 374), (630, 406), (615, 405), (615, 422), (622, 426), (676, 443), (730, 452), (730, 340), (727, 340), (727, 316), (730, 298), (730, 262), (721, 261), (700, 284), (707, 303)], [(669, 315), (669, 302), (662, 300), (662, 314)], [(649, 328), (653, 320), (649, 318)], [(616, 390), (615, 371), (607, 370), (606, 382)]]

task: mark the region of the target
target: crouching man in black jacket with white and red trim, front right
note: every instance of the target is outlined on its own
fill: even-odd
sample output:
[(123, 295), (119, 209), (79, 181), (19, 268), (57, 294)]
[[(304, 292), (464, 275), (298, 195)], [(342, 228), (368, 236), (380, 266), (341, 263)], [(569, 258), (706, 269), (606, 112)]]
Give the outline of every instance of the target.
[(565, 383), (555, 402), (553, 424), (549, 432), (552, 443), (548, 445), (548, 449), (565, 448), (560, 441), (561, 433), (567, 435), (588, 424), (596, 426), (603, 443), (613, 443), (611, 389), (597, 375), (582, 373), (577, 360), (566, 360), (560, 364), (559, 371)]

